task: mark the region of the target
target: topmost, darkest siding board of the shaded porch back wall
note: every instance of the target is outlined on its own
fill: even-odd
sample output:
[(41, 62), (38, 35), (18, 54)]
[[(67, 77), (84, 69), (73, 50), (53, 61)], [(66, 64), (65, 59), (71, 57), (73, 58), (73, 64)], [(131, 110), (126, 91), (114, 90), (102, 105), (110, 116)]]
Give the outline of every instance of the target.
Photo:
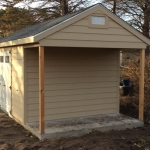
[[(106, 55), (107, 50), (107, 55)], [(93, 51), (93, 53), (91, 53)], [(55, 48), (51, 49), (49, 47), (46, 47), (45, 55), (46, 59), (57, 59), (57, 58), (64, 58), (64, 59), (103, 59), (104, 57), (110, 58), (111, 56), (116, 56), (117, 51), (112, 49), (92, 49), (89, 48), (88, 50), (86, 48)], [(60, 54), (60, 55), (58, 55)], [(102, 57), (103, 55), (103, 57)], [(78, 57), (77, 57), (78, 56)], [(71, 57), (71, 58), (70, 58)], [(113, 57), (111, 57), (113, 58)], [(94, 59), (94, 60), (95, 60)]]

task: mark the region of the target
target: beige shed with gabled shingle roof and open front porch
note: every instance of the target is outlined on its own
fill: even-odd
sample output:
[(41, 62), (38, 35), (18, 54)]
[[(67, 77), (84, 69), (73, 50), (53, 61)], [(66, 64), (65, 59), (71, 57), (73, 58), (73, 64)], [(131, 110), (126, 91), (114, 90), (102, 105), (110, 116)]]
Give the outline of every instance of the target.
[(101, 4), (26, 27), (0, 39), (1, 108), (38, 137), (46, 122), (119, 114), (120, 49), (139, 49), (143, 120), (149, 44)]

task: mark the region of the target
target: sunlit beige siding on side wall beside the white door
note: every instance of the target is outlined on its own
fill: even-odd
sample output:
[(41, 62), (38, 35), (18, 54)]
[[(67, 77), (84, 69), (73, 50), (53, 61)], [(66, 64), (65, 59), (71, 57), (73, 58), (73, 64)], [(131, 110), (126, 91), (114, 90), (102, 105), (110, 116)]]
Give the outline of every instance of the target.
[(24, 52), (23, 47), (13, 47), (12, 59), (12, 115), (24, 121)]

